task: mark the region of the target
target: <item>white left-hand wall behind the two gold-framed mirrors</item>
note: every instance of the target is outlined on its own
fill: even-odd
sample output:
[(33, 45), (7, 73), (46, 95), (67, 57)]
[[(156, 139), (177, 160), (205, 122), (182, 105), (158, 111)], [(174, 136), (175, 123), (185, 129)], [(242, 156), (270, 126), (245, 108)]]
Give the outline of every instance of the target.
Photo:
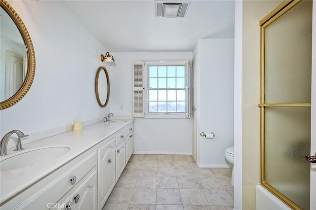
[(13, 129), (32, 134), (107, 114), (109, 106), (98, 105), (94, 90), (106, 48), (61, 1), (9, 3), (31, 35), (36, 71), (27, 95), (1, 110), (0, 136)]

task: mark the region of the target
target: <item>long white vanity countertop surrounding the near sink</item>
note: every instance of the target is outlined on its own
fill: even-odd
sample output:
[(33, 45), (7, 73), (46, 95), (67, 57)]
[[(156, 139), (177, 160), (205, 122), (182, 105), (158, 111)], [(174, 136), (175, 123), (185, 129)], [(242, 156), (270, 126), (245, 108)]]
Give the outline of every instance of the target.
[(70, 147), (70, 151), (66, 154), (49, 161), (42, 162), (36, 166), (0, 171), (0, 203), (30, 186), (32, 183), (38, 181), (45, 175), (50, 174), (57, 168), (68, 163), (75, 157), (95, 146), (102, 140), (105, 140), (119, 129), (133, 121), (134, 120), (126, 120), (126, 122), (115, 122), (110, 124), (100, 122), (85, 126), (82, 131), (69, 131), (28, 144), (23, 144), (22, 141), (23, 148), (25, 148), (22, 151), (14, 152), (12, 149), (8, 149), (7, 155), (1, 156), (0, 161), (4, 158), (6, 159), (34, 148), (47, 146)]

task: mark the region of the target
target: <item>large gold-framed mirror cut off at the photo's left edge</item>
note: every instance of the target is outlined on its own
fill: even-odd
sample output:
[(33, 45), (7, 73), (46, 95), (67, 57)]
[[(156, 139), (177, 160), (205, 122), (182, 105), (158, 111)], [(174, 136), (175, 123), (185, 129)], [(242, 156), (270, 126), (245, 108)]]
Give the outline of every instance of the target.
[(19, 102), (29, 91), (35, 74), (35, 53), (19, 15), (7, 1), (0, 1), (0, 109), (3, 109)]

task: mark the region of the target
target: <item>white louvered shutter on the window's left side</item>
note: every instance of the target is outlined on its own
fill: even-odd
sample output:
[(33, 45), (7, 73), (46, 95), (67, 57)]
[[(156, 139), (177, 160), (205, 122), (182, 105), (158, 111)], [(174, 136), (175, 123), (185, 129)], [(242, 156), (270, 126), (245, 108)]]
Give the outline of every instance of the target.
[(133, 63), (133, 117), (144, 117), (143, 62)]

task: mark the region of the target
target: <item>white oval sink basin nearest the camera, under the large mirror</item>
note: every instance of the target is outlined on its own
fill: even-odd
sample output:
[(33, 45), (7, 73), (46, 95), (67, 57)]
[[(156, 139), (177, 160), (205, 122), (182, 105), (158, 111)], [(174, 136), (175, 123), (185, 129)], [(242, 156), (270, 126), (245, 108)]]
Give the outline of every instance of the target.
[(68, 146), (50, 146), (22, 151), (22, 153), (4, 158), (0, 162), (0, 170), (14, 170), (36, 166), (70, 151)]

